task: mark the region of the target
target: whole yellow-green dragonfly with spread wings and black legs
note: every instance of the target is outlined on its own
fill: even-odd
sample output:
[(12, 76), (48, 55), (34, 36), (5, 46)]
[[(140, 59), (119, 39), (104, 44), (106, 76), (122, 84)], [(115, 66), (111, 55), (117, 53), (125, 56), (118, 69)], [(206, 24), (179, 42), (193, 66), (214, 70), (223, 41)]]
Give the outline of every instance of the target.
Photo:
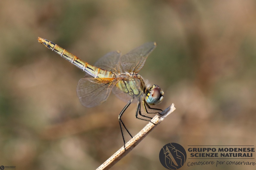
[[(137, 103), (135, 118), (140, 120), (152, 119), (142, 114), (142, 106), (146, 114), (162, 111), (151, 106), (164, 99), (164, 91), (158, 85), (146, 85), (145, 80), (138, 74), (148, 55), (155, 49), (156, 42), (144, 43), (123, 56), (120, 51), (109, 52), (94, 65), (79, 59), (51, 41), (38, 37), (38, 42), (86, 72), (85, 77), (81, 78), (77, 85), (77, 96), (83, 106), (91, 108), (103, 103), (111, 91), (119, 99), (127, 102), (118, 116), (125, 150), (123, 128), (131, 137), (133, 136), (124, 125), (122, 115), (130, 104)], [(157, 112), (149, 111), (152, 109)]]

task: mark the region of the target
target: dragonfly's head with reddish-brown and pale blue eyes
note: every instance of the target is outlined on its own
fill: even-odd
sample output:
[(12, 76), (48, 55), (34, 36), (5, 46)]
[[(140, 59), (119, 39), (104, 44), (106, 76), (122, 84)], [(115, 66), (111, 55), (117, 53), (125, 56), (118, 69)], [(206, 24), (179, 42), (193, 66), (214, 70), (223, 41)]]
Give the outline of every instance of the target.
[(159, 86), (153, 85), (149, 88), (145, 100), (149, 105), (157, 105), (164, 99), (164, 91)]

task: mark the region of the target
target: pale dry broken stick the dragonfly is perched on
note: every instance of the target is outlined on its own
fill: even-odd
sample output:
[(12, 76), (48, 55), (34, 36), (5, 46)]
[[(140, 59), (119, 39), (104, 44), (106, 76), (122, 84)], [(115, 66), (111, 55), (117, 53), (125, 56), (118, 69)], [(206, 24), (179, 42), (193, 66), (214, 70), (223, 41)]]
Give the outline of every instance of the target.
[[(96, 170), (107, 170), (115, 165), (119, 160), (121, 160), (125, 155), (127, 155), (135, 146), (137, 146), (144, 137), (148, 135), (149, 132), (158, 124), (160, 124), (166, 116), (175, 110), (174, 104), (165, 109), (163, 112), (158, 113), (137, 135), (135, 135), (131, 140), (125, 144), (126, 151), (124, 147), (121, 147), (114, 155), (112, 155), (108, 160), (106, 160), (101, 166)], [(153, 124), (154, 123), (154, 124)]]

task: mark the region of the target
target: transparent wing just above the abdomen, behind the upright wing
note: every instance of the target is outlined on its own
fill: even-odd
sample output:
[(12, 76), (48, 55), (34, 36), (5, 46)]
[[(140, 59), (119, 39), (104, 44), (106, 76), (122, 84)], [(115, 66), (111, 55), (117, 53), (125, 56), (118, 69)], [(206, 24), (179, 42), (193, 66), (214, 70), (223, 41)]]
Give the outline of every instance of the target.
[(96, 63), (95, 66), (101, 69), (112, 71), (112, 72), (121, 72), (120, 65), (120, 55), (119, 51), (109, 52), (103, 57), (101, 57)]

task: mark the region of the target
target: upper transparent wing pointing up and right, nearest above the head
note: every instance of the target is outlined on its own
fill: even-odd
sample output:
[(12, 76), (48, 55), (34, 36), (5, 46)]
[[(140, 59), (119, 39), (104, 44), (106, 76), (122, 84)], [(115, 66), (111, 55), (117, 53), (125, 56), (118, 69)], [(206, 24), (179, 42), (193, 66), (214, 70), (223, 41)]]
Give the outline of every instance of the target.
[(139, 72), (143, 67), (148, 55), (156, 47), (156, 42), (147, 42), (120, 58), (123, 70), (126, 72)]

